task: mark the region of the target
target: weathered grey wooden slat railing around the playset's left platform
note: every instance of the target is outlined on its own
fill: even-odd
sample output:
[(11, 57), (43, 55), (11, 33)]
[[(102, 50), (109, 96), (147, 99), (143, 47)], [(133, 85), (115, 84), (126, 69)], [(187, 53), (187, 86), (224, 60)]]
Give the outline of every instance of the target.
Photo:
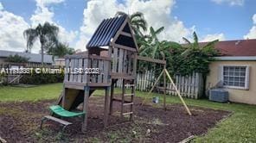
[(110, 84), (111, 58), (96, 55), (72, 55), (65, 57), (66, 84), (104, 86)]

